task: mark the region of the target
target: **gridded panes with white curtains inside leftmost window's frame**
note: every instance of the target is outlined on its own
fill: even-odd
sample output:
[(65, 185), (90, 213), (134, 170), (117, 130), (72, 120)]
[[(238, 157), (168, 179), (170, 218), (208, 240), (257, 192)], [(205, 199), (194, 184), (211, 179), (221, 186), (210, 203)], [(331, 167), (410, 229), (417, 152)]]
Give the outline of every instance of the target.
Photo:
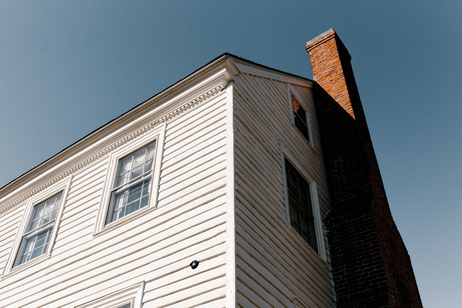
[(32, 208), (13, 267), (46, 254), (61, 198), (62, 192)]

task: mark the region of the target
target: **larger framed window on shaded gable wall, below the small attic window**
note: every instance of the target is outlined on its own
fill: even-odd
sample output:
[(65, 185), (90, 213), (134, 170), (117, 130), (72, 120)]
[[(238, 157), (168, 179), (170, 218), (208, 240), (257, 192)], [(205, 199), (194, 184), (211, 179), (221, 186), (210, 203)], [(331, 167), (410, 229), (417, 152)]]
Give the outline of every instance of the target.
[(326, 260), (316, 181), (282, 141), (280, 147), (286, 223)]

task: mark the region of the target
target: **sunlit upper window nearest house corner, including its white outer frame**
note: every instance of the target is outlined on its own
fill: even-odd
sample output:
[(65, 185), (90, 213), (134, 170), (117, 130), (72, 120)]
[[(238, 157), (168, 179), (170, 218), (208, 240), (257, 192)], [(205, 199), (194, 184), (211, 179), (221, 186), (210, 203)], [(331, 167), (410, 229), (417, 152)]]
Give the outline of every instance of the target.
[(94, 235), (155, 208), (164, 126), (110, 154)]

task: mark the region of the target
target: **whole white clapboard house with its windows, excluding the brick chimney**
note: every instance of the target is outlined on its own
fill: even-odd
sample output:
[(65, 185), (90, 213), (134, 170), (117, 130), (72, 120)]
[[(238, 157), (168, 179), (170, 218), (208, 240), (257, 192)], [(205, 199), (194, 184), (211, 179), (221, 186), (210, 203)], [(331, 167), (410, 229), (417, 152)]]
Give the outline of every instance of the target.
[(313, 84), (223, 54), (1, 188), (0, 307), (334, 306)]

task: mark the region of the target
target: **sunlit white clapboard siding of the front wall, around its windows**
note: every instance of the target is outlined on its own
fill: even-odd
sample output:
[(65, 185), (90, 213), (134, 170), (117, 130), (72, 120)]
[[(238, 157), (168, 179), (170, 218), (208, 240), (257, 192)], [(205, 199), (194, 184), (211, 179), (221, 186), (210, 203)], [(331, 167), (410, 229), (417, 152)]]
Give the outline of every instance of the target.
[[(94, 235), (110, 153), (74, 172), (51, 258), (3, 277), (0, 307), (74, 307), (142, 281), (146, 308), (224, 307), (225, 98), (167, 119), (157, 207), (128, 223)], [(24, 205), (0, 217), (0, 266)]]

